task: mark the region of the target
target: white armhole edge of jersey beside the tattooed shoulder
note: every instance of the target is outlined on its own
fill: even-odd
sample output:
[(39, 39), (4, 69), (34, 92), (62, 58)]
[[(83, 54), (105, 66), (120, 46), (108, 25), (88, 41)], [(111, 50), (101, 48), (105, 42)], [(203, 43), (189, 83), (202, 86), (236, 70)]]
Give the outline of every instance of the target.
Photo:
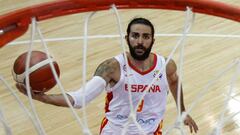
[(109, 85), (108, 85), (108, 92), (111, 92), (111, 91), (113, 91), (114, 89), (116, 89), (117, 87), (119, 87), (119, 85), (121, 84), (121, 81), (123, 80), (123, 77), (124, 77), (124, 73), (123, 73), (123, 70), (122, 70), (122, 68), (123, 68), (123, 63), (124, 62), (122, 62), (122, 60), (124, 60), (124, 59), (122, 59), (121, 57), (123, 57), (123, 55), (122, 54), (120, 54), (120, 55), (118, 55), (118, 56), (115, 56), (114, 57), (114, 59), (116, 59), (117, 61), (118, 61), (118, 63), (119, 63), (119, 69), (120, 69), (120, 78), (119, 78), (119, 81), (113, 86), (113, 87), (110, 87)]

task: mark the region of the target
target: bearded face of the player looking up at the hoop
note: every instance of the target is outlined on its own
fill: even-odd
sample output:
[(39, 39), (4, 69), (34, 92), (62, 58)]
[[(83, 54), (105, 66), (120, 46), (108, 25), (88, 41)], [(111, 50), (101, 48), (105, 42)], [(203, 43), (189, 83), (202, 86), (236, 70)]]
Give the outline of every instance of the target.
[(144, 24), (133, 24), (126, 37), (131, 56), (139, 61), (148, 58), (154, 42), (151, 28)]

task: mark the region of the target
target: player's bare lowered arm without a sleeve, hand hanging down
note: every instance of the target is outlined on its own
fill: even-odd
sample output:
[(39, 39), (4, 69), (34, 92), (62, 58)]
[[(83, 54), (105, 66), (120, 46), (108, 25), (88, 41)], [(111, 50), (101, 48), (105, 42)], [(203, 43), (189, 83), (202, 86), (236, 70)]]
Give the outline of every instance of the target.
[[(178, 75), (177, 75), (177, 66), (173, 60), (170, 60), (169, 63), (167, 64), (166, 73), (167, 73), (167, 79), (168, 79), (170, 91), (177, 104)], [(181, 107), (181, 112), (184, 112), (185, 106), (184, 106), (184, 100), (183, 100), (184, 98), (183, 98), (182, 86), (180, 90), (181, 90), (180, 107)], [(190, 115), (186, 116), (184, 120), (184, 124), (189, 126), (191, 133), (193, 131), (197, 133), (198, 126)]]

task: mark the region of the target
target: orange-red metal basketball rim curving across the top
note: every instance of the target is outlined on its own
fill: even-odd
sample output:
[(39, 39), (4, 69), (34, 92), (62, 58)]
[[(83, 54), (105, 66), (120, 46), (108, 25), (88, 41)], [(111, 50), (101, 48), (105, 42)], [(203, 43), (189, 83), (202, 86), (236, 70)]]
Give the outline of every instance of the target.
[[(186, 7), (190, 7), (191, 11), (195, 13), (213, 15), (213, 16), (223, 17), (226, 19), (240, 22), (239, 7), (230, 6), (225, 3), (217, 2), (213, 0), (196, 0), (196, 1), (194, 0), (144, 0), (144, 1), (143, 0), (135, 0), (135, 1), (61, 0), (61, 1), (54, 1), (54, 2), (48, 2), (40, 5), (30, 6), (30, 7), (26, 7), (20, 10), (7, 13), (5, 15), (1, 15), (0, 16), (0, 48), (4, 47), (11, 41), (25, 34), (30, 24), (32, 23), (31, 21), (32, 18), (36, 18), (36, 21), (41, 22), (41, 21), (45, 21), (55, 17), (65, 16), (70, 14), (99, 11), (99, 10), (108, 10), (109, 8), (111, 8), (113, 4), (118, 9), (144, 8), (144, 9), (169, 9), (169, 10), (185, 11)], [(186, 36), (186, 34), (187, 32), (184, 33), (183, 35)], [(86, 37), (87, 35), (85, 35), (85, 39)], [(234, 64), (238, 64), (238, 63), (234, 63)], [(83, 65), (86, 65), (86, 64), (83, 64)], [(86, 76), (83, 78), (85, 80)], [(186, 114), (188, 113), (189, 112), (187, 112)], [(176, 125), (174, 125), (173, 128), (175, 128), (175, 126)], [(176, 126), (176, 128), (179, 128), (179, 127)]]

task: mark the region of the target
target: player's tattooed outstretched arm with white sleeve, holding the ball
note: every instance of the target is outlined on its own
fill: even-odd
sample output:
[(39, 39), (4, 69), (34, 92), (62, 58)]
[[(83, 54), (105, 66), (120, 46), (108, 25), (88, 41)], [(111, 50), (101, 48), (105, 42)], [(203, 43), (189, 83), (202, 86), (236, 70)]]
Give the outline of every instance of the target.
[[(83, 106), (83, 97), (85, 97), (85, 103), (89, 103), (91, 100), (96, 98), (105, 89), (108, 83), (114, 84), (114, 77), (119, 71), (118, 62), (115, 59), (108, 59), (101, 63), (94, 76), (86, 83), (85, 92), (80, 88), (79, 90), (68, 92), (67, 97), (70, 103), (75, 108), (81, 108)], [(18, 90), (27, 95), (26, 87), (24, 84), (17, 83), (16, 87)], [(31, 93), (32, 98), (43, 103), (52, 104), (56, 106), (68, 107), (68, 104), (63, 94), (45, 94), (45, 93)]]

